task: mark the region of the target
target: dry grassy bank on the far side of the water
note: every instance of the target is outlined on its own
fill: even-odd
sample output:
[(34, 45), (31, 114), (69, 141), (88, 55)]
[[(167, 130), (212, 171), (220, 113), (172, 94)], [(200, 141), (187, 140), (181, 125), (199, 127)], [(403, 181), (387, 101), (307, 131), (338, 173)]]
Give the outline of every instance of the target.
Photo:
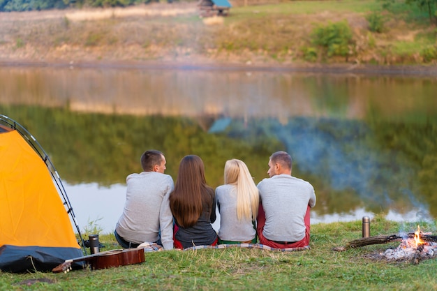
[[(212, 18), (199, 17), (194, 1), (0, 13), (0, 61), (244, 66), (436, 64), (435, 26), (414, 6), (402, 5), (403, 1), (394, 1), (392, 10), (384, 10), (377, 0), (231, 2), (228, 17)], [(371, 31), (371, 13), (381, 17), (380, 32)], [(335, 22), (346, 22), (350, 27), (350, 52), (327, 57), (311, 35), (317, 27)]]

